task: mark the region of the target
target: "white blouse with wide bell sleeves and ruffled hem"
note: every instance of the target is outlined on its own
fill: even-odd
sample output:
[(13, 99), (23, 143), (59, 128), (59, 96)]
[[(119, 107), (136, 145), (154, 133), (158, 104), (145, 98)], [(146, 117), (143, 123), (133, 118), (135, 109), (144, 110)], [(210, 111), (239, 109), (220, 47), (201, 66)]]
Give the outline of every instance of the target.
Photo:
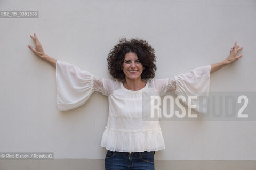
[[(157, 151), (165, 149), (159, 119), (142, 120), (142, 92), (157, 91), (159, 96), (168, 92), (208, 96), (210, 71), (210, 65), (197, 67), (173, 78), (148, 80), (145, 87), (132, 91), (120, 81), (95, 77), (57, 60), (57, 105), (60, 111), (74, 109), (85, 104), (94, 91), (100, 92), (109, 101), (108, 122), (100, 146), (118, 152)], [(193, 99), (192, 104), (199, 111), (198, 100)]]

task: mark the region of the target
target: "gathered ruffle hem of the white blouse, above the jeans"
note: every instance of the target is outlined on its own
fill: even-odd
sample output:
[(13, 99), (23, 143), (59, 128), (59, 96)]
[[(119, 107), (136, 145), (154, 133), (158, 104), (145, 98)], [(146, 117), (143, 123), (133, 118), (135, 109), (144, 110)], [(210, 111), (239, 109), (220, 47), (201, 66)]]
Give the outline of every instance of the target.
[(161, 128), (127, 132), (106, 127), (102, 135), (101, 147), (118, 152), (144, 152), (165, 149)]

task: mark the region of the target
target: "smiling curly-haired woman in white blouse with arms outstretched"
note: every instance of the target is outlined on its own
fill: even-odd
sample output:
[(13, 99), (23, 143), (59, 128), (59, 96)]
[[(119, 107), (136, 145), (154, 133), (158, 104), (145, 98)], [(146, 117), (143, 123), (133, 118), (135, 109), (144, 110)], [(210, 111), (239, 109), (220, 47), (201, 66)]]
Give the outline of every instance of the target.
[(186, 97), (208, 96), (210, 74), (241, 58), (237, 52), (243, 48), (236, 43), (223, 62), (196, 67), (172, 78), (153, 79), (156, 71), (154, 48), (145, 40), (121, 39), (108, 54), (108, 70), (113, 79), (106, 79), (47, 56), (36, 35), (31, 38), (36, 47), (28, 47), (34, 54), (56, 67), (60, 111), (83, 105), (94, 91), (108, 96), (109, 116), (100, 144), (108, 150), (106, 169), (154, 169), (155, 151), (165, 149), (159, 119), (142, 119), (142, 92), (154, 91), (159, 96), (168, 92)]

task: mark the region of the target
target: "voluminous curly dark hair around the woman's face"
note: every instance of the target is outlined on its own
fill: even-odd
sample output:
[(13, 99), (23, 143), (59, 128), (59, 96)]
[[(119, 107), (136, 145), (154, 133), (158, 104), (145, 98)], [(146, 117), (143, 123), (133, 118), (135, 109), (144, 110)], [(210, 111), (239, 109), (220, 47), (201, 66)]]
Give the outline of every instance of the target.
[(126, 53), (135, 52), (145, 69), (141, 73), (141, 79), (151, 79), (155, 77), (156, 56), (155, 49), (152, 48), (146, 40), (134, 39), (127, 41), (126, 38), (119, 39), (120, 43), (115, 45), (108, 54), (108, 70), (110, 75), (118, 81), (125, 80), (125, 74), (122, 69), (124, 56)]

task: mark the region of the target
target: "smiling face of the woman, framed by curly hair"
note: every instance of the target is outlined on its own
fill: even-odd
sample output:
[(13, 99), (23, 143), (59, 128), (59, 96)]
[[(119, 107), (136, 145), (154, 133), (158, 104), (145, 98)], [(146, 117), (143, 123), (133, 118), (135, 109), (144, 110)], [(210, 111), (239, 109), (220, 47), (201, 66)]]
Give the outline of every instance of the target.
[(126, 80), (140, 80), (141, 73), (145, 69), (134, 52), (126, 53), (123, 62), (123, 72)]

